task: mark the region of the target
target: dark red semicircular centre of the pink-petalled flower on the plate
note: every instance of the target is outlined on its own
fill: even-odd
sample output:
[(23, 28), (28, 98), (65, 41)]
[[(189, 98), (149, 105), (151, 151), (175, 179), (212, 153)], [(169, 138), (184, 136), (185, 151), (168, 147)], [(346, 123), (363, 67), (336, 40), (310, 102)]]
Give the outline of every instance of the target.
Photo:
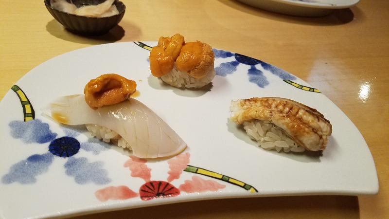
[(141, 200), (156, 198), (175, 197), (180, 194), (179, 190), (172, 184), (165, 181), (150, 181), (144, 183), (139, 189)]

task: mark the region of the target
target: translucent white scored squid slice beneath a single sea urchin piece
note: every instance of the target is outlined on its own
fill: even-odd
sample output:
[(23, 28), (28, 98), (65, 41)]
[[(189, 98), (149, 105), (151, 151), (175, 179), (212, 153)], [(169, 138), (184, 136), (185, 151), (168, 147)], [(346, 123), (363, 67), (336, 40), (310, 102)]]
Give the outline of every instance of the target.
[(84, 95), (60, 97), (42, 109), (67, 125), (97, 124), (117, 132), (140, 158), (170, 157), (182, 152), (186, 143), (155, 112), (136, 99), (91, 109)]

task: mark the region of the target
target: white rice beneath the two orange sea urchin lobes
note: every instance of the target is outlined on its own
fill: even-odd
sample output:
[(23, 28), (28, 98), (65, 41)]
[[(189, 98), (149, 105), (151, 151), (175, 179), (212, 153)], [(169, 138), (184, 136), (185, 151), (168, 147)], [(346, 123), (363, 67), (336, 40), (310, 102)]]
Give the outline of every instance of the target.
[(165, 83), (176, 88), (201, 88), (211, 83), (215, 74), (215, 69), (211, 68), (204, 77), (197, 79), (186, 72), (178, 71), (176, 67), (174, 67), (172, 71), (164, 74), (160, 78)]

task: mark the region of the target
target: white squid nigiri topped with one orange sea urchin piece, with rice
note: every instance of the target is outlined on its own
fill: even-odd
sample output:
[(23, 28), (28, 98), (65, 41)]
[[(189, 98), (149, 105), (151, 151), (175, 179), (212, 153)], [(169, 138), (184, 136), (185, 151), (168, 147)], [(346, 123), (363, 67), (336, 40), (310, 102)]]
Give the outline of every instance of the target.
[(86, 125), (105, 142), (129, 148), (140, 158), (170, 157), (181, 153), (186, 143), (155, 112), (131, 98), (133, 81), (105, 74), (91, 80), (85, 95), (59, 97), (42, 112), (66, 125)]

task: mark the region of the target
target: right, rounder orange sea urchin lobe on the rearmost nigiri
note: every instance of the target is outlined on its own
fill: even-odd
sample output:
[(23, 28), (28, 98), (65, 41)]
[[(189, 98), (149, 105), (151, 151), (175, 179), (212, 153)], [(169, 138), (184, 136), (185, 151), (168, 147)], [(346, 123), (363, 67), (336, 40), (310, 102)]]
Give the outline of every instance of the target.
[(212, 47), (200, 41), (188, 42), (176, 60), (176, 68), (194, 78), (204, 77), (213, 67), (215, 55)]

